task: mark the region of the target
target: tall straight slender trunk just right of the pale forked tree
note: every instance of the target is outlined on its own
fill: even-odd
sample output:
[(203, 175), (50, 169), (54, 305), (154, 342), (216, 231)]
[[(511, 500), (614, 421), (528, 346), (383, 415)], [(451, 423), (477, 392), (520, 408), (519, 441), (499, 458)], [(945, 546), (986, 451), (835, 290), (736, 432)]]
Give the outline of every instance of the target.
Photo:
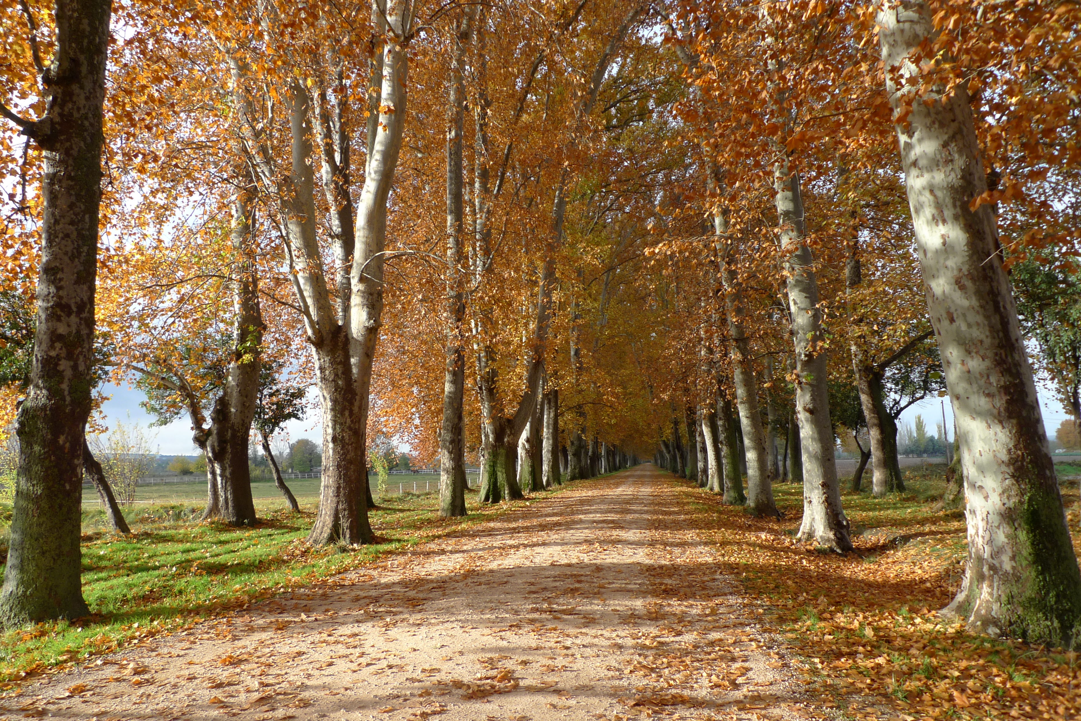
[(462, 282), (465, 86), (462, 74), (470, 19), (471, 14), (462, 10), (454, 23), (446, 101), (446, 301), (443, 318), (446, 363), (443, 374), (443, 425), (439, 433), (439, 515), (442, 518), (466, 515), (465, 422), (462, 412), (466, 384), (466, 304)]

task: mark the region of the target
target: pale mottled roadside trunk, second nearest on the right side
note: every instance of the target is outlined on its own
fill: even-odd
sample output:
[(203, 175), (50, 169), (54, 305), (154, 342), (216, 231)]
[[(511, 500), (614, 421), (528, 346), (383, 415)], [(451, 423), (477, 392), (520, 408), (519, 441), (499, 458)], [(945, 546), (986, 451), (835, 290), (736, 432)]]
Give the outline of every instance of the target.
[(780, 245), (787, 255), (788, 303), (796, 344), (796, 414), (803, 454), (803, 523), (801, 540), (833, 548), (853, 549), (849, 519), (841, 508), (841, 488), (833, 456), (833, 426), (829, 419), (829, 376), (825, 334), (818, 305), (818, 283), (811, 249), (804, 242), (803, 199), (800, 176), (788, 165), (787, 156), (773, 166)]

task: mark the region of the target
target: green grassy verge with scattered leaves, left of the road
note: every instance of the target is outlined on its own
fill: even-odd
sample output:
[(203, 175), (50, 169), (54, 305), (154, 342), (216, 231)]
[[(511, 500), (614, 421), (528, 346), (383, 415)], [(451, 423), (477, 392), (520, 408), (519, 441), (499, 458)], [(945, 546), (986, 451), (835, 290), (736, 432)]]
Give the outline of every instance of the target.
[[(171, 633), (227, 609), (319, 584), (384, 553), (573, 486), (498, 506), (478, 504), (473, 491), (466, 498), (469, 516), (454, 520), (438, 517), (436, 493), (377, 498), (381, 507), (371, 511), (377, 543), (359, 549), (304, 543), (313, 505), (302, 506), (299, 515), (267, 511), (254, 529), (198, 523), (201, 508), (186, 503), (141, 506), (129, 511), (130, 536), (107, 531), (99, 510), (84, 510), (82, 583), (92, 615), (0, 633), (0, 689), (51, 667)], [(10, 522), (10, 509), (0, 521)]]

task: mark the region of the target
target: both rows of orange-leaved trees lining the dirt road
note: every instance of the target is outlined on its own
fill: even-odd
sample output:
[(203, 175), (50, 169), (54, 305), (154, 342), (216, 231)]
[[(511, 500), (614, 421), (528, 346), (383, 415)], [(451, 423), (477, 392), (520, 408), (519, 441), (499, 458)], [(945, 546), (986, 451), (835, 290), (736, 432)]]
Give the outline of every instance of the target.
[[(948, 392), (970, 505), (952, 610), (1077, 632), (1023, 336), (1068, 391), (1047, 298), (1075, 242), (1073, 5), (133, 2), (112, 45), (106, 0), (22, 8), (4, 117), (43, 164), (5, 137), (28, 188), (9, 265), (39, 278), (9, 622), (85, 607), (56, 452), (93, 402), (96, 315), (107, 368), (191, 420), (209, 518), (255, 523), (267, 369), (271, 396), (315, 384), (312, 544), (371, 539), (383, 437), (438, 454), (450, 517), (473, 451), (485, 502), (655, 456), (777, 515), (791, 467), (800, 537), (846, 551), (838, 430), (866, 432), (885, 494), (898, 415)], [(78, 67), (46, 68), (38, 38)], [(1026, 268), (1023, 325), (1006, 270)]]

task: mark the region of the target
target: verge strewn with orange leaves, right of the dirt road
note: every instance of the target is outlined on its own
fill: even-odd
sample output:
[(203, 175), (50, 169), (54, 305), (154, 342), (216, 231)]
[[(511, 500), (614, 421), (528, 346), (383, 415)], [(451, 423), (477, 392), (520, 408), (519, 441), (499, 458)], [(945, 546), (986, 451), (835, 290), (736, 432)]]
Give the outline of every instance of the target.
[[(806, 692), (839, 718), (1081, 718), (1076, 652), (974, 636), (937, 614), (966, 552), (963, 512), (933, 510), (943, 471), (910, 468), (908, 490), (881, 499), (845, 493), (858, 551), (848, 557), (792, 538), (802, 515), (793, 484), (774, 486), (780, 521), (752, 519), (689, 484), (680, 493), (723, 570), (763, 603), (802, 659)], [(1064, 499), (1081, 553), (1076, 482), (1064, 483)]]

